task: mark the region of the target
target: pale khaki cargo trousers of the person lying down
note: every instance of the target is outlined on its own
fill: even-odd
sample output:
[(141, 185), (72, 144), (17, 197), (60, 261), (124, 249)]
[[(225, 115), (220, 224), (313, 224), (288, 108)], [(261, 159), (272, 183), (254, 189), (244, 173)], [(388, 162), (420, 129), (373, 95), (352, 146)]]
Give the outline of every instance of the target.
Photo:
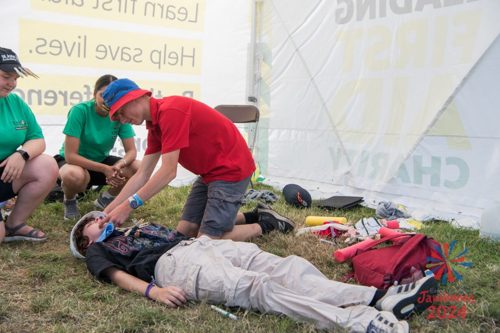
[(253, 243), (181, 241), (159, 258), (154, 274), (158, 286), (178, 287), (188, 300), (284, 314), (320, 329), (366, 332), (378, 314), (367, 306), (374, 287), (328, 280), (303, 258), (281, 258)]

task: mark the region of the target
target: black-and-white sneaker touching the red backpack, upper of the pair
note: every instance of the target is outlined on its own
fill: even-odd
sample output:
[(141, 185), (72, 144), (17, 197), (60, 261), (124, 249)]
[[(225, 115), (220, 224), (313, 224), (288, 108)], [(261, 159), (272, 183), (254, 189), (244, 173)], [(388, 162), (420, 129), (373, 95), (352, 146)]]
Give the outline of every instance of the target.
[(436, 294), (437, 280), (433, 276), (427, 276), (407, 285), (390, 287), (375, 303), (375, 308), (390, 311), (397, 318), (404, 319), (430, 307), (433, 303), (432, 296)]

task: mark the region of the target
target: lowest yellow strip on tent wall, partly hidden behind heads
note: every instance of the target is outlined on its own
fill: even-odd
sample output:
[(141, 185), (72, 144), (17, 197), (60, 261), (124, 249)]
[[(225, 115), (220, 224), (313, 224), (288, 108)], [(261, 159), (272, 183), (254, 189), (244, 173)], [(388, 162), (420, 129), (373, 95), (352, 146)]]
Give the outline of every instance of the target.
[[(12, 93), (18, 94), (37, 115), (66, 115), (75, 104), (93, 98), (97, 78), (87, 76), (40, 75), (39, 80), (18, 80)], [(152, 93), (152, 97), (163, 98), (180, 95), (200, 98), (198, 83), (134, 80), (137, 85)]]

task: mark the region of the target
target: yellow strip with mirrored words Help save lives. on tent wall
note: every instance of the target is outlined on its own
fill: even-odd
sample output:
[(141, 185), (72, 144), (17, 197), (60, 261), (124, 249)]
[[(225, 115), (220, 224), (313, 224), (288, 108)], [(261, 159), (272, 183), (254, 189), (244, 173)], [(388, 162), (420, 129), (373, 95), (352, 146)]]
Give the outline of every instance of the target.
[(19, 19), (24, 62), (199, 75), (201, 46), (200, 40)]

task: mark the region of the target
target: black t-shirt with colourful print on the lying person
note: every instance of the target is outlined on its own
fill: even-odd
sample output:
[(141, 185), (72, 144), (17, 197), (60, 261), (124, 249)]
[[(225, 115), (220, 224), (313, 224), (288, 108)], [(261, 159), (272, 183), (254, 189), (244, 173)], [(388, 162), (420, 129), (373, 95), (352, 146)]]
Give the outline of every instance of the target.
[(87, 268), (97, 278), (109, 281), (102, 271), (114, 266), (143, 281), (151, 282), (159, 257), (183, 239), (189, 239), (177, 230), (149, 223), (134, 227), (128, 236), (114, 230), (104, 241), (90, 245), (85, 254)]

